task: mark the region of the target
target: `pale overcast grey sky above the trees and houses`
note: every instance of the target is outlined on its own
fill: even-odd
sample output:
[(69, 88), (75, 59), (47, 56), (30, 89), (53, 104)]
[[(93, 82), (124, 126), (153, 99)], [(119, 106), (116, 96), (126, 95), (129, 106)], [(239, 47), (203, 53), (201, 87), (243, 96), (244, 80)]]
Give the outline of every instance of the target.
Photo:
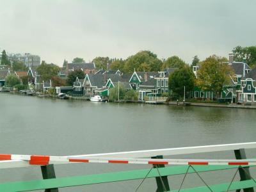
[(191, 63), (256, 45), (256, 1), (0, 0), (0, 50), (31, 52), (47, 63), (150, 50)]

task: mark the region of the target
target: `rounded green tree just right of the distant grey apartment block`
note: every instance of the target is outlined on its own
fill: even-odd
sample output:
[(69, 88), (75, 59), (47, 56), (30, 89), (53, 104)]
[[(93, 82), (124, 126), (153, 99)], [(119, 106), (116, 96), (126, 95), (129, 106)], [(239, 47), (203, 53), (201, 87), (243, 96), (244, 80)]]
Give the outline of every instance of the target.
[(49, 81), (52, 77), (57, 76), (60, 71), (60, 67), (54, 64), (47, 64), (42, 61), (42, 64), (37, 67), (37, 72), (40, 75), (42, 81)]

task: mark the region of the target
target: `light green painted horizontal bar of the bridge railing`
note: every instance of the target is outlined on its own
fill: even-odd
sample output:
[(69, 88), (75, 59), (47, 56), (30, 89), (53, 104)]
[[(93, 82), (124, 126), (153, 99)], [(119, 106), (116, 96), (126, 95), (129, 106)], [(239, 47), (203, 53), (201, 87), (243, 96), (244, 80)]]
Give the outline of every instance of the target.
[[(216, 170), (230, 170), (238, 168), (238, 166), (195, 166), (196, 172), (210, 172)], [(188, 166), (167, 166), (165, 168), (159, 168), (159, 173), (161, 176), (170, 176), (170, 175), (182, 175), (185, 174), (188, 170)], [(97, 175), (83, 175), (75, 177), (63, 177), (56, 179), (43, 179), (43, 180), (30, 180), (24, 182), (8, 182), (0, 184), (0, 191), (32, 191), (39, 189), (52, 189), (52, 188), (67, 188), (72, 186), (82, 186), (89, 184), (102, 184), (106, 182), (120, 182), (124, 180), (135, 180), (135, 179), (144, 179), (145, 175), (149, 172), (149, 169), (145, 170), (132, 170), (127, 172), (115, 172), (115, 173), (104, 173)], [(147, 175), (147, 178), (159, 177), (157, 169), (152, 169), (152, 171)], [(194, 170), (189, 170), (188, 173), (195, 173)], [(214, 191), (225, 191), (228, 188), (229, 183), (227, 184), (218, 184), (211, 186)], [(230, 189), (243, 189), (243, 188), (252, 188), (256, 184), (253, 180), (245, 180), (234, 182)], [(132, 191), (132, 189), (131, 189)], [(177, 190), (176, 190), (177, 191)], [(181, 191), (209, 191), (207, 187), (202, 186), (198, 188), (191, 189), (182, 189)], [(174, 192), (174, 191), (173, 191)]]

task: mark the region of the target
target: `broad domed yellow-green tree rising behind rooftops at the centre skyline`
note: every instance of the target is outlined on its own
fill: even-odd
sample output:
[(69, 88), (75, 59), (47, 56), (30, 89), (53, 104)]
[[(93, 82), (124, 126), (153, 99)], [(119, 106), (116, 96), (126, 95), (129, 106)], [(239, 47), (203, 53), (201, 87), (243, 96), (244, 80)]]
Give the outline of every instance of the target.
[(125, 61), (124, 72), (137, 71), (159, 71), (163, 62), (157, 58), (157, 55), (150, 51), (140, 51), (130, 56)]

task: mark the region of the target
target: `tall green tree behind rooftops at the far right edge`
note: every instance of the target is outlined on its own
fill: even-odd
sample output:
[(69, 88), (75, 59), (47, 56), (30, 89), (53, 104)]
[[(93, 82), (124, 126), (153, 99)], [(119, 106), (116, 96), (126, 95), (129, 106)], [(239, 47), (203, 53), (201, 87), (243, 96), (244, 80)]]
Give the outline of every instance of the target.
[(235, 61), (244, 61), (250, 66), (256, 65), (256, 46), (241, 47), (237, 46), (232, 51)]

